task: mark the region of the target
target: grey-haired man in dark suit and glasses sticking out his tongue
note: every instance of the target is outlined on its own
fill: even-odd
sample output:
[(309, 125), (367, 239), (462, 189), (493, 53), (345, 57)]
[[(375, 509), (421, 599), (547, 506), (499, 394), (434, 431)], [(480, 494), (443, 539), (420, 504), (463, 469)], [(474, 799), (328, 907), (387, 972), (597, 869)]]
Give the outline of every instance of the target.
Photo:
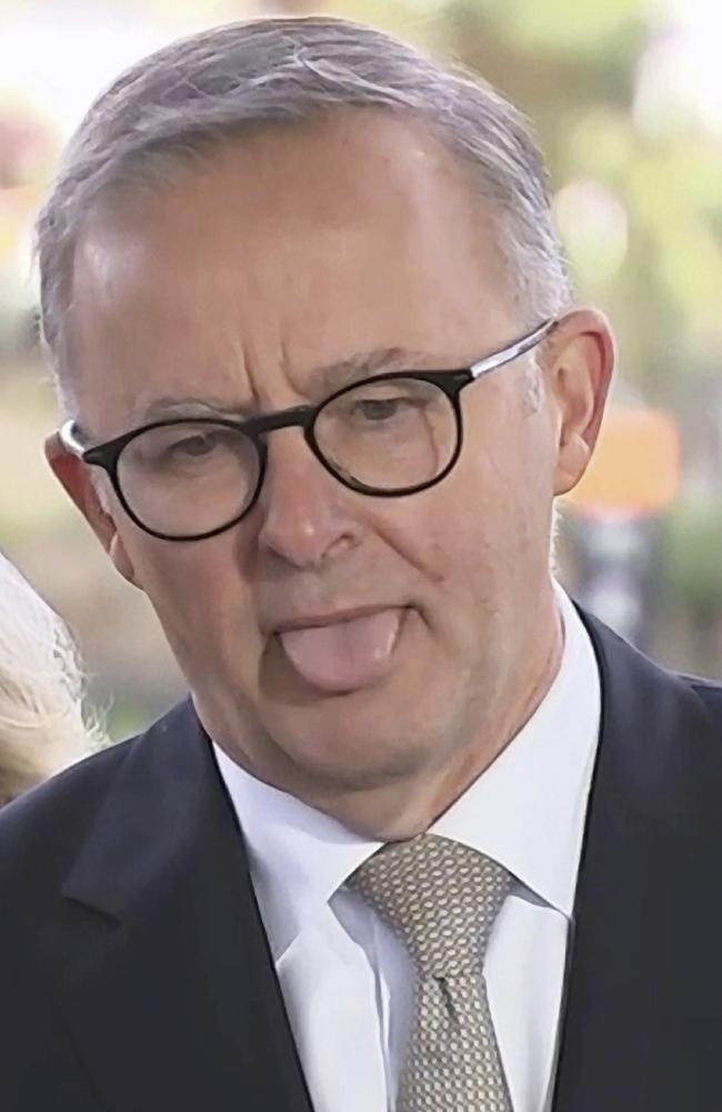
[(38, 251), (48, 458), (190, 696), (0, 816), (10, 1106), (715, 1108), (722, 695), (553, 582), (613, 341), (515, 110), (212, 30)]

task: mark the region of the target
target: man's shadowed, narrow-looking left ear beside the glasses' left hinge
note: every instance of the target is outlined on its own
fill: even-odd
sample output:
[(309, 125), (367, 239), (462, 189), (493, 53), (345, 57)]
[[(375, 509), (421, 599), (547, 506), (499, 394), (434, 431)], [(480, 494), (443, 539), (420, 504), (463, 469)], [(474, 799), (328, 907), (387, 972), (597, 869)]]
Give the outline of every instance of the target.
[(121, 509), (112, 493), (108, 490), (108, 496), (103, 497), (103, 492), (93, 481), (90, 466), (68, 451), (57, 433), (46, 440), (46, 459), (56, 478), (89, 522), (117, 570), (133, 586), (138, 586), (132, 560), (116, 524), (116, 515)]

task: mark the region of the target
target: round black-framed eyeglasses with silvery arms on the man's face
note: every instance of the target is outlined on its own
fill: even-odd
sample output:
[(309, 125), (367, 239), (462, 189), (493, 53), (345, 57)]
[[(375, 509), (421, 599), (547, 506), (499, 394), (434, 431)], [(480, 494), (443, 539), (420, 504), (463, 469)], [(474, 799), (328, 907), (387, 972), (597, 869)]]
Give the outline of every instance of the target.
[(203, 540), (250, 513), (263, 485), (265, 437), (280, 428), (301, 428), (319, 463), (349, 489), (398, 498), (440, 483), (459, 459), (464, 386), (525, 355), (555, 324), (544, 321), (471, 367), (377, 375), (319, 405), (248, 420), (157, 420), (92, 447), (67, 421), (60, 438), (83, 463), (102, 467), (126, 513), (162, 540)]

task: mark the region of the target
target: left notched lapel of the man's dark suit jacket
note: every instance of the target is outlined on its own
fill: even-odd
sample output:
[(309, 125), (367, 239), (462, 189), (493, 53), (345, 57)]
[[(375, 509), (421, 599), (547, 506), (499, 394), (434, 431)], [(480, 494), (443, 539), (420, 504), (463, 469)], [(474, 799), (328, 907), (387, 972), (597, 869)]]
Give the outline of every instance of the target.
[(311, 1112), (242, 838), (190, 706), (128, 747), (44, 942), (103, 1108)]

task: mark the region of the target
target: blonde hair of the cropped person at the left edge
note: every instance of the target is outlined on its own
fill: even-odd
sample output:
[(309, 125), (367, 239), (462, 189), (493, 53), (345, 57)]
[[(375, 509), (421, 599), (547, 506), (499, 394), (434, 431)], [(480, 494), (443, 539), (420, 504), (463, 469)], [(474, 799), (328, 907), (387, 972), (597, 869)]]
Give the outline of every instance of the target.
[(76, 647), (0, 553), (0, 806), (97, 748)]

